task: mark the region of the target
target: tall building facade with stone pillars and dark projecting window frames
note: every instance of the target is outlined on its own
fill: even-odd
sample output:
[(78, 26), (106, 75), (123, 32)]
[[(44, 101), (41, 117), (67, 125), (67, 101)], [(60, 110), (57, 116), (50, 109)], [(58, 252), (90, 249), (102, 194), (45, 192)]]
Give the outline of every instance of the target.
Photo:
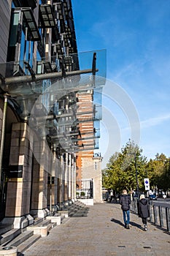
[(81, 132), (94, 129), (78, 102), (89, 88), (93, 101), (96, 53), (80, 69), (71, 0), (2, 0), (0, 11), (0, 219), (25, 227), (76, 198), (80, 152), (92, 144)]

